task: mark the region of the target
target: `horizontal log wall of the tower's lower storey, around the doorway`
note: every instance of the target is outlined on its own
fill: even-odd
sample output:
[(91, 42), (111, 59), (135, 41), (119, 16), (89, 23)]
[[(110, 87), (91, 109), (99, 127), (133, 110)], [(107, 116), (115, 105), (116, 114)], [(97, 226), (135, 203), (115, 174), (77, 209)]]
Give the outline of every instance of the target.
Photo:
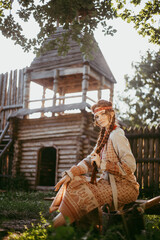
[(70, 114), (52, 118), (16, 119), (14, 122), (13, 175), (23, 173), (31, 188), (36, 188), (38, 152), (42, 147), (57, 149), (56, 181), (62, 172), (82, 160), (96, 142), (91, 115)]

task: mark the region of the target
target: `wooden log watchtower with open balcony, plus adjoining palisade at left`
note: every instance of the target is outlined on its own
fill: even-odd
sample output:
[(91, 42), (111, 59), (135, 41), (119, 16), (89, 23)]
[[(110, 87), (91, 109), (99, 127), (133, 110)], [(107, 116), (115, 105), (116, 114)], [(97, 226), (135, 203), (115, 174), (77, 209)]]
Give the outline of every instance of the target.
[[(62, 33), (63, 29), (58, 28), (55, 37)], [(109, 89), (109, 100), (113, 99), (116, 81), (100, 49), (93, 49), (93, 59), (89, 60), (83, 57), (77, 43), (71, 40), (69, 44), (66, 56), (58, 56), (55, 49), (36, 57), (29, 68), (19, 72), (19, 82), (17, 72), (9, 79), (6, 75), (0, 77), (1, 143), (5, 142), (8, 129), (13, 141), (11, 157), (10, 151), (1, 150), (1, 175), (8, 159), (12, 162), (12, 176), (23, 174), (32, 189), (53, 187), (63, 171), (90, 153), (97, 131), (88, 104), (88, 100), (94, 101), (87, 96), (88, 91), (96, 90), (100, 99), (102, 89)], [(29, 107), (32, 81), (43, 87), (43, 97), (38, 100), (41, 107), (36, 109)], [(46, 98), (46, 89), (53, 91), (51, 99)], [(75, 94), (80, 98), (78, 103), (74, 103)], [(48, 100), (53, 104), (45, 107)], [(31, 119), (30, 115), (36, 112), (41, 113), (40, 118)], [(46, 112), (52, 116), (47, 117)]]

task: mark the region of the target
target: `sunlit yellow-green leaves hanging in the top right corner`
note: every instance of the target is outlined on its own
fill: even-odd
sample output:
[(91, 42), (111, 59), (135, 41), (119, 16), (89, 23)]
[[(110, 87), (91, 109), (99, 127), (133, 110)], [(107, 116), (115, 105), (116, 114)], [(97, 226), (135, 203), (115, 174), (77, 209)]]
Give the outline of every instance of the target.
[[(119, 4), (121, 0), (117, 1)], [(159, 0), (132, 0), (130, 6), (128, 3), (121, 7), (119, 16), (128, 23), (133, 22), (135, 29), (143, 37), (148, 36), (150, 42), (160, 45), (160, 27), (159, 13), (160, 1)]]

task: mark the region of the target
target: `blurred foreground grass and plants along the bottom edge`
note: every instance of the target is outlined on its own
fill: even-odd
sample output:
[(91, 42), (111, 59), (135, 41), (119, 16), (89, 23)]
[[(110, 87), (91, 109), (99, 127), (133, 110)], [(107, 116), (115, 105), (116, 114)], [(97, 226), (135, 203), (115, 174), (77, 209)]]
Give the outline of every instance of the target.
[[(135, 240), (158, 240), (160, 234), (160, 217), (145, 216), (145, 231), (135, 236)], [(133, 236), (132, 236), (133, 237)], [(113, 225), (104, 234), (93, 231), (90, 228), (86, 232), (76, 229), (73, 226), (61, 226), (53, 228), (41, 215), (41, 223), (32, 225), (32, 228), (26, 228), (22, 234), (10, 233), (8, 240), (127, 240), (126, 235), (120, 224)]]

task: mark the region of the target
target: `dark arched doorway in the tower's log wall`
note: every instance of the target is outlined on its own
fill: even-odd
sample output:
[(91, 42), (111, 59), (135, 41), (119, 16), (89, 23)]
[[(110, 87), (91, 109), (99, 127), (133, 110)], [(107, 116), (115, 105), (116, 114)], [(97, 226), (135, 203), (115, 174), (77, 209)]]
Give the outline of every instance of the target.
[(39, 152), (38, 182), (39, 186), (54, 186), (56, 175), (56, 149), (44, 147)]

